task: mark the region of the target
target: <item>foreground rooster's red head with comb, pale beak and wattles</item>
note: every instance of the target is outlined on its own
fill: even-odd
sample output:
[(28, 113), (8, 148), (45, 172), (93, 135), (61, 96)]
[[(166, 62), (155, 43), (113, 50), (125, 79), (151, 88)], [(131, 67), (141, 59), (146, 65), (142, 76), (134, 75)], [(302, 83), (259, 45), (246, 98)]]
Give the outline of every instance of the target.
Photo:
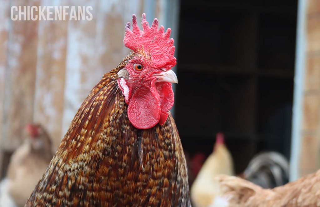
[(124, 45), (133, 50), (134, 55), (118, 72), (118, 87), (126, 104), (128, 118), (135, 128), (147, 129), (156, 124), (164, 124), (173, 106), (171, 83), (178, 83), (171, 70), (176, 64), (171, 29), (164, 32), (154, 19), (151, 27), (142, 14), (141, 31), (135, 15), (125, 27)]

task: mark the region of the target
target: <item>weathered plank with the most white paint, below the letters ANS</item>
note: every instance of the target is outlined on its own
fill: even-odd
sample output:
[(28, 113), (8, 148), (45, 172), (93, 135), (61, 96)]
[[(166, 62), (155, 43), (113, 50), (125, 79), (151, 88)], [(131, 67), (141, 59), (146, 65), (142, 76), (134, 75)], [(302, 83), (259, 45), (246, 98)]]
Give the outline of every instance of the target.
[(95, 58), (96, 9), (94, 1), (70, 1), (72, 5), (90, 5), (93, 8), (92, 21), (69, 21), (67, 59), (64, 90), (64, 110), (62, 136), (66, 133), (71, 120), (84, 98), (93, 87)]

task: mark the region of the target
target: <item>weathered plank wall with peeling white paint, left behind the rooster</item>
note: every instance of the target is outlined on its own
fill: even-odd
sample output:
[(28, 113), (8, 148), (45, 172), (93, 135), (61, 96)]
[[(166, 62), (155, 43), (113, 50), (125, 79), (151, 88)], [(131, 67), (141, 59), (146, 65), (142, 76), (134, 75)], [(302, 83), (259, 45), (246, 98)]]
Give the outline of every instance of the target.
[[(30, 122), (48, 130), (55, 151), (89, 91), (129, 52), (123, 36), (132, 14), (166, 26), (166, 2), (0, 0), (0, 152), (19, 146)], [(12, 21), (12, 5), (90, 5), (93, 19)]]

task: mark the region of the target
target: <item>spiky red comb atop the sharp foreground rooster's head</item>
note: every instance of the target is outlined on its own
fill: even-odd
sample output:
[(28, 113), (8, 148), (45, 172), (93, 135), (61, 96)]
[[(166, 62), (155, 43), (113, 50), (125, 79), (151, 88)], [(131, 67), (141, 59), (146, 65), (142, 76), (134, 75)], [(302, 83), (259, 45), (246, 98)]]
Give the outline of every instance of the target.
[(146, 14), (141, 18), (142, 31), (137, 24), (136, 15), (132, 15), (132, 31), (130, 22), (125, 26), (124, 46), (139, 53), (148, 52), (153, 64), (158, 68), (169, 70), (176, 65), (174, 57), (173, 39), (170, 38), (171, 29), (164, 32), (164, 27), (158, 28), (159, 22), (155, 18), (151, 27), (146, 20)]

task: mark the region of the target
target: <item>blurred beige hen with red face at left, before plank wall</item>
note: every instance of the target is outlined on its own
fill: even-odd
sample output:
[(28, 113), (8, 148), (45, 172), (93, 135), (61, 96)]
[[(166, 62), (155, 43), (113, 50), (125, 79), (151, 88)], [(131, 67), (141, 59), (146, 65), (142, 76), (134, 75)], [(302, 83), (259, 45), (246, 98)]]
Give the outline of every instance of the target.
[[(12, 154), (7, 178), (3, 181), (3, 192), (7, 192), (18, 207), (24, 206), (53, 156), (50, 138), (40, 125), (27, 125), (25, 134), (24, 143)], [(4, 200), (7, 203), (0, 204), (1, 207), (12, 206), (10, 198)]]

